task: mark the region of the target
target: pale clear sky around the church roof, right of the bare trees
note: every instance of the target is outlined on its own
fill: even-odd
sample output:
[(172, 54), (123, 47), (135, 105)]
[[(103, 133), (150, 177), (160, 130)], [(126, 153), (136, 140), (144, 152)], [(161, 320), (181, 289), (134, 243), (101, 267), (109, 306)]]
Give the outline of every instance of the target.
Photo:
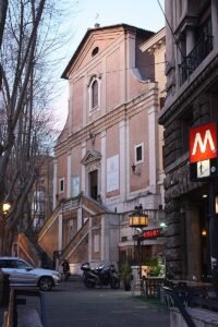
[[(74, 15), (72, 20), (73, 36), (65, 45), (64, 60), (60, 63), (60, 75), (69, 60), (75, 52), (88, 28), (96, 23), (101, 27), (114, 24), (129, 24), (144, 29), (158, 32), (165, 26), (165, 0), (71, 0)], [(61, 95), (57, 99), (55, 109), (58, 128), (64, 126), (68, 117), (68, 81), (60, 82)]]

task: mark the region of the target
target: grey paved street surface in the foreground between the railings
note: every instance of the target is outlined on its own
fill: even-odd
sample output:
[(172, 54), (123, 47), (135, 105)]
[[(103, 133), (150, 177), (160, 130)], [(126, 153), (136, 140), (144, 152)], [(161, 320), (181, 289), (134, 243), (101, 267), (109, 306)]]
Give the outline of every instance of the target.
[(86, 289), (81, 280), (46, 293), (47, 327), (169, 327), (169, 311), (123, 289)]

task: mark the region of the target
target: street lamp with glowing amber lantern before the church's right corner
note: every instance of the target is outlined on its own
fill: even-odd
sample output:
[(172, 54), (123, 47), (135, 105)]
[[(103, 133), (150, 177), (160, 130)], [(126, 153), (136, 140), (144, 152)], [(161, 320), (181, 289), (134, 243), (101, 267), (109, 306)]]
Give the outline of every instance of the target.
[[(135, 206), (133, 214), (129, 216), (129, 227), (136, 228), (143, 231), (143, 228), (148, 226), (148, 216), (143, 213), (143, 206)], [(138, 261), (138, 277), (142, 279), (142, 233), (134, 235), (137, 241), (137, 261)]]

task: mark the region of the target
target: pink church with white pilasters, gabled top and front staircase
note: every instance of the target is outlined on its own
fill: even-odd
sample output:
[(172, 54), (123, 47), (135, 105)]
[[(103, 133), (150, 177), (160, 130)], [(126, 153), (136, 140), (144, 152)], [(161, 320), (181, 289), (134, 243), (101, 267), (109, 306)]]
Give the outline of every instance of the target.
[[(147, 229), (161, 222), (160, 60), (165, 29), (96, 26), (62, 74), (69, 81), (69, 114), (55, 149), (53, 218), (39, 244), (50, 256), (68, 257), (72, 269), (83, 261), (132, 258), (135, 231), (128, 217), (135, 206), (149, 216)], [(145, 240), (143, 247), (156, 256), (164, 252), (164, 240)]]

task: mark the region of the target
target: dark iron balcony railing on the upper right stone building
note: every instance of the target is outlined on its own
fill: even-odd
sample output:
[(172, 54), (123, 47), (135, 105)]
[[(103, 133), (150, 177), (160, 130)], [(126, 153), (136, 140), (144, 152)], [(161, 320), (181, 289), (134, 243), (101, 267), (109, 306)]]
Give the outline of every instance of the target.
[(204, 35), (184, 61), (179, 65), (180, 85), (195, 71), (201, 62), (213, 50), (213, 36)]

